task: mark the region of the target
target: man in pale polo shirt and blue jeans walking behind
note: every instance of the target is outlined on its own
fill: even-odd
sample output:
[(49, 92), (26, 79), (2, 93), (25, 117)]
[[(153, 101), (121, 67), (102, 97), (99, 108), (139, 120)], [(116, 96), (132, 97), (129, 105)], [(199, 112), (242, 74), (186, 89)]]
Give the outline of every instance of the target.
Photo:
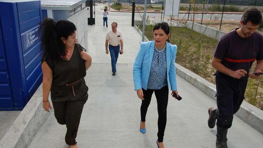
[(116, 63), (119, 53), (123, 54), (122, 33), (119, 30), (117, 30), (116, 22), (111, 23), (111, 30), (106, 35), (106, 41), (105, 41), (106, 54), (109, 53), (108, 44), (109, 44), (109, 51), (111, 54), (112, 75), (115, 76)]

